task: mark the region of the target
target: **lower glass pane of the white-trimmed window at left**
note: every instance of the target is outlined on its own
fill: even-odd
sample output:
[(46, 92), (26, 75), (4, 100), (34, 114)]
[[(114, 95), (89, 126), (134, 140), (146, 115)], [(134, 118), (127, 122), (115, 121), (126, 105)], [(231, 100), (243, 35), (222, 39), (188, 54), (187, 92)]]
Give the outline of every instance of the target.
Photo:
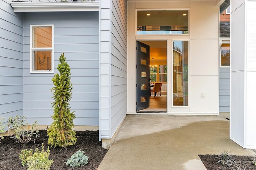
[(52, 51), (33, 51), (34, 70), (52, 70)]

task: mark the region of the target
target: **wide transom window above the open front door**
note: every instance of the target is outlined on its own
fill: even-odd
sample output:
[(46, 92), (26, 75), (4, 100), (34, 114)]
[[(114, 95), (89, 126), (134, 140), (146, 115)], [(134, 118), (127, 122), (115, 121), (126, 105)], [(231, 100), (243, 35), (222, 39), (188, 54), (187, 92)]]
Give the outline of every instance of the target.
[(188, 10), (137, 11), (137, 34), (188, 34)]

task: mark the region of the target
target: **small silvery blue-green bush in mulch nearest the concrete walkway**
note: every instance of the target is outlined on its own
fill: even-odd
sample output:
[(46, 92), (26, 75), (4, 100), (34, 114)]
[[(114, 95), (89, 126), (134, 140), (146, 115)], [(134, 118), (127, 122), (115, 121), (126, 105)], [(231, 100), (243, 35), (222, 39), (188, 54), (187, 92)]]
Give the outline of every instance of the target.
[(88, 164), (88, 158), (88, 156), (84, 155), (84, 151), (78, 150), (67, 160), (66, 165), (71, 167), (84, 166)]

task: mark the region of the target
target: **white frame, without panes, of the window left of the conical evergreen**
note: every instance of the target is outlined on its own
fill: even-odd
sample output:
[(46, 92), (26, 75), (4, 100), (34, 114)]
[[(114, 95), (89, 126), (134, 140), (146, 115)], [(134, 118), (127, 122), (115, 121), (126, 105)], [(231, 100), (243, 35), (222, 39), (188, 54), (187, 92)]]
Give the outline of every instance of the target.
[[(32, 47), (32, 27), (52, 27), (52, 47)], [(54, 25), (53, 24), (40, 24), (30, 25), (30, 73), (54, 73)], [(35, 70), (33, 51), (52, 51), (52, 70)]]

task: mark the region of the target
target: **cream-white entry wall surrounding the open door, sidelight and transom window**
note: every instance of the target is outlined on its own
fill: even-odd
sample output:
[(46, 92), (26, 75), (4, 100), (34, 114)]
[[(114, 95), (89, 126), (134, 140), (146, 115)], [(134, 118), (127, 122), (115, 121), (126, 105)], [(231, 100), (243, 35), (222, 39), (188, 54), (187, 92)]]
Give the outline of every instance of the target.
[[(135, 35), (136, 9), (188, 9), (189, 35)], [(136, 113), (136, 40), (167, 40), (167, 114), (218, 114), (219, 6), (214, 1), (128, 2), (127, 112)], [(189, 106), (172, 107), (172, 41), (189, 41)], [(205, 97), (202, 97), (205, 92)]]

